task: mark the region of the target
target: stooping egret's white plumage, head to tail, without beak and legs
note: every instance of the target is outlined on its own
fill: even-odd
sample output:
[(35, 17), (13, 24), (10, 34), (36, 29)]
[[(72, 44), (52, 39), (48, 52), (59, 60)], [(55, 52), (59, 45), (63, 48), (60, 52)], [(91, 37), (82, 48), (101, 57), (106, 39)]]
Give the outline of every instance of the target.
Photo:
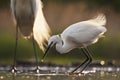
[[(99, 15), (98, 17), (100, 17)], [(97, 17), (97, 18), (98, 18)], [(103, 16), (101, 16), (103, 17)], [(59, 53), (66, 53), (77, 47), (86, 47), (90, 44), (96, 43), (100, 37), (107, 31), (107, 29), (103, 26), (102, 22), (105, 22), (104, 19), (90, 19), (87, 21), (78, 22), (70, 25), (67, 29), (65, 29), (60, 36), (54, 35), (49, 41), (48, 45), (53, 42), (56, 44), (56, 50)]]

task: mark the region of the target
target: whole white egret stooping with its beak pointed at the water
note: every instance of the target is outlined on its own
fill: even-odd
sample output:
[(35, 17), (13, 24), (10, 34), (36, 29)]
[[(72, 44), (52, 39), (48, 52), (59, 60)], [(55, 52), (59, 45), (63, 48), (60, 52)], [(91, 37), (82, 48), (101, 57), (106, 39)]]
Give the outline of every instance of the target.
[(87, 46), (96, 43), (98, 39), (103, 36), (103, 34), (107, 31), (107, 29), (104, 27), (105, 24), (105, 15), (99, 14), (96, 18), (70, 25), (61, 34), (53, 35), (49, 39), (48, 47), (45, 51), (45, 54), (43, 55), (42, 61), (46, 56), (48, 50), (54, 44), (56, 45), (56, 50), (59, 53), (67, 53), (74, 48), (80, 47), (86, 56), (86, 60), (70, 73), (75, 73), (78, 68), (83, 66), (79, 72), (82, 73), (82, 71), (92, 61), (92, 57)]

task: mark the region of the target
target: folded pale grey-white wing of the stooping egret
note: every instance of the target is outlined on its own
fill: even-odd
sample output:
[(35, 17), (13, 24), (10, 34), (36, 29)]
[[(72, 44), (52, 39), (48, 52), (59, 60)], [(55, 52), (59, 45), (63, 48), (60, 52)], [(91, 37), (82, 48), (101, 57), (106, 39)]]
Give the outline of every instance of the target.
[(89, 43), (95, 40), (100, 33), (106, 32), (102, 26), (93, 25), (87, 22), (80, 22), (68, 28), (63, 35), (68, 41), (74, 43)]

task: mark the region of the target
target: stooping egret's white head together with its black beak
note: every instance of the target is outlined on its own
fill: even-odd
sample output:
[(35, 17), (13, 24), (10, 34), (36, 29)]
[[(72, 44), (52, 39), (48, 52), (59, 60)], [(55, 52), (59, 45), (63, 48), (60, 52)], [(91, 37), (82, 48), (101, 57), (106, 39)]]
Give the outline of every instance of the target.
[(46, 56), (47, 52), (49, 51), (49, 49), (54, 46), (57, 42), (59, 42), (61, 39), (60, 39), (60, 36), (59, 35), (54, 35), (52, 37), (50, 37), (50, 39), (48, 40), (48, 46), (47, 46), (47, 49), (45, 51), (45, 54), (43, 55), (43, 58), (42, 58), (42, 61), (44, 59), (44, 57)]

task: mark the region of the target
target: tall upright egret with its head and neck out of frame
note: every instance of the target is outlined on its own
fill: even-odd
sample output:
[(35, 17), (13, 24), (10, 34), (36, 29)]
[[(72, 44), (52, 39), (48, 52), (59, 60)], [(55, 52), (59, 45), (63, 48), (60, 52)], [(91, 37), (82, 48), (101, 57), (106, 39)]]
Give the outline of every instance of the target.
[(41, 0), (11, 0), (11, 11), (16, 26), (16, 42), (12, 72), (16, 70), (16, 52), (18, 45), (18, 29), (24, 38), (32, 38), (34, 55), (36, 59), (36, 71), (39, 71), (38, 58), (35, 48), (35, 40), (44, 50), (44, 40), (49, 38), (49, 26), (44, 18)]

